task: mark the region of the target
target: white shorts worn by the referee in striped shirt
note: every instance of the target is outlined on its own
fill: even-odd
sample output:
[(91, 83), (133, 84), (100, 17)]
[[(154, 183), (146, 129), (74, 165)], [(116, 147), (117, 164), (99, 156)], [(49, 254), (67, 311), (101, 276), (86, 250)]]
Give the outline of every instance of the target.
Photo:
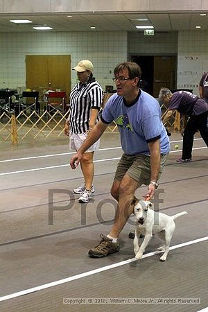
[[(78, 150), (80, 146), (83, 144), (85, 139), (87, 138), (87, 133), (70, 133), (69, 140), (69, 148), (70, 150)], [(95, 150), (99, 150), (100, 147), (100, 139), (96, 141), (85, 153), (94, 152)]]

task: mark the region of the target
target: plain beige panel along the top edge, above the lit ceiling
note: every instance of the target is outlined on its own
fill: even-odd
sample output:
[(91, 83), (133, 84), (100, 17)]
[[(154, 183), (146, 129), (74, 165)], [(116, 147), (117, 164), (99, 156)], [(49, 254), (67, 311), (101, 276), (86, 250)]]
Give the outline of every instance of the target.
[(0, 13), (187, 12), (208, 10), (207, 0), (1, 0), (0, 4)]

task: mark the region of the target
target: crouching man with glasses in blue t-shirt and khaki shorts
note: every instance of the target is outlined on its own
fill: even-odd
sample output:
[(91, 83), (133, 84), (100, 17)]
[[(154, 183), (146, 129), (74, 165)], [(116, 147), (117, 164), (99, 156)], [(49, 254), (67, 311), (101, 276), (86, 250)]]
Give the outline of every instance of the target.
[(75, 169), (85, 150), (96, 142), (107, 125), (118, 125), (123, 155), (116, 168), (111, 194), (118, 201), (114, 224), (109, 234), (101, 234), (101, 243), (89, 250), (89, 257), (101, 258), (119, 251), (118, 236), (133, 211), (135, 191), (142, 184), (148, 186), (146, 198), (151, 199), (157, 189), (166, 156), (169, 139), (161, 121), (159, 103), (139, 89), (141, 69), (134, 62), (118, 64), (114, 69), (117, 94), (107, 101), (99, 121), (71, 157)]

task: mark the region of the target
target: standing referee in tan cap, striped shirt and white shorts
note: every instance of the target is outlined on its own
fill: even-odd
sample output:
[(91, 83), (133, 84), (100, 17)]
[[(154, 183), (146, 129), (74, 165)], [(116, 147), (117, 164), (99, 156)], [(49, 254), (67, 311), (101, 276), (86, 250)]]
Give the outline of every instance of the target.
[[(70, 93), (69, 118), (65, 123), (64, 133), (70, 135), (71, 148), (78, 150), (87, 138), (89, 132), (98, 122), (98, 112), (103, 101), (103, 89), (93, 77), (93, 64), (89, 60), (81, 60), (73, 68), (77, 72), (79, 83)], [(79, 202), (89, 202), (94, 193), (94, 151), (99, 149), (98, 140), (85, 150), (80, 161), (84, 176), (84, 184), (73, 189), (73, 193), (80, 194)]]

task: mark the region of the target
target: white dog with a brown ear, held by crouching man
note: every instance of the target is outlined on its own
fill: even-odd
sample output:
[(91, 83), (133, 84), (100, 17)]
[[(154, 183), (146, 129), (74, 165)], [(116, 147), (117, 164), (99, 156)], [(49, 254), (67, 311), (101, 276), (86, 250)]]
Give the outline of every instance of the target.
[[(157, 234), (160, 239), (164, 240), (164, 245), (157, 249), (159, 251), (164, 251), (160, 260), (166, 261), (173, 232), (175, 231), (174, 219), (187, 214), (187, 211), (182, 211), (174, 216), (167, 216), (166, 214), (155, 212), (153, 209), (150, 209), (150, 207), (152, 207), (151, 202), (137, 200), (137, 198), (132, 201), (132, 205), (135, 205), (134, 214), (136, 217), (134, 239), (136, 258), (141, 259), (151, 237), (153, 234)], [(139, 247), (139, 237), (141, 234), (144, 235), (144, 241)]]

